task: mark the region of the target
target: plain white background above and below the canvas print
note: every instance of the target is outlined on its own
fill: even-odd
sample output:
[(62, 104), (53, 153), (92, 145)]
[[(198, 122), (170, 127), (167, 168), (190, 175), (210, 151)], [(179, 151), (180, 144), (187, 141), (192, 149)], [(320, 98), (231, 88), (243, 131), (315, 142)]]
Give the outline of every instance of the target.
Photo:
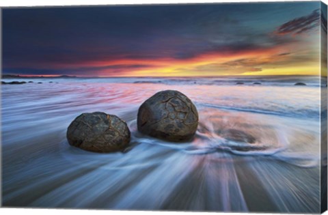
[[(136, 0), (136, 1), (128, 1), (128, 0), (112, 0), (112, 1), (104, 1), (104, 0), (2, 0), (0, 1), (0, 7), (8, 7), (8, 6), (45, 6), (45, 5), (113, 5), (113, 4), (141, 4), (141, 3), (220, 3), (220, 2), (256, 2), (254, 0), (223, 0), (223, 1), (215, 1), (215, 0)], [(272, 1), (272, 0), (271, 0)], [(282, 0), (277, 0), (282, 1)], [(302, 0), (299, 0), (302, 1)], [(326, 4), (328, 0), (324, 0)], [(68, 214), (79, 214), (79, 215), (102, 215), (102, 214), (118, 214), (118, 215), (142, 215), (142, 214), (154, 214), (154, 215), (204, 215), (204, 214), (213, 214), (209, 212), (144, 212), (144, 211), (109, 211), (109, 210), (50, 210), (50, 209), (8, 209), (1, 208), (0, 214), (47, 214), (47, 215), (68, 215)], [(215, 213), (215, 214), (225, 214), (225, 213)], [(234, 213), (240, 214), (241, 213)], [(328, 214), (326, 212), (325, 214)]]

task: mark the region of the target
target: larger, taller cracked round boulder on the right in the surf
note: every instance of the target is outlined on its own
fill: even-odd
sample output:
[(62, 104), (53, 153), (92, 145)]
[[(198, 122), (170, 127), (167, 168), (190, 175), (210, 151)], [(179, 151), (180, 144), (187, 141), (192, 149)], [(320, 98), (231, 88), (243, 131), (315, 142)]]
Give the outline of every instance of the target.
[(198, 126), (198, 113), (191, 100), (175, 90), (159, 91), (139, 107), (139, 132), (166, 141), (191, 139)]

